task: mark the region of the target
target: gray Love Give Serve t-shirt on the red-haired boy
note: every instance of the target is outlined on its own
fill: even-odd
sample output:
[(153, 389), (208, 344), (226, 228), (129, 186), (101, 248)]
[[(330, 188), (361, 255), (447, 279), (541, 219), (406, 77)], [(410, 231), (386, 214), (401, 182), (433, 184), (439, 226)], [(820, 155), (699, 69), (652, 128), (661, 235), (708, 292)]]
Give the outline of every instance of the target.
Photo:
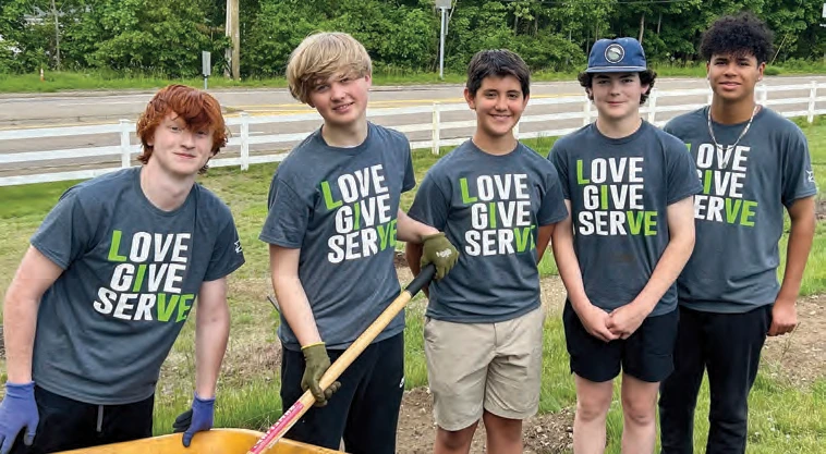
[(141, 168), (63, 194), (32, 245), (64, 271), (37, 315), (34, 380), (64, 397), (121, 405), (149, 397), (201, 285), (244, 262), (229, 208), (201, 185), (162, 211)]

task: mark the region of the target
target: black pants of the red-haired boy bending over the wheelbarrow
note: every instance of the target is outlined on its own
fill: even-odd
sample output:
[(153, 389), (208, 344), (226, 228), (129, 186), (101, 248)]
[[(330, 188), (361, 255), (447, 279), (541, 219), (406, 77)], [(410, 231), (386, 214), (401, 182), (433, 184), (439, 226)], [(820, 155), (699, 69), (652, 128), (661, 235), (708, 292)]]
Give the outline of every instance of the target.
[(23, 432), (11, 454), (46, 454), (151, 437), (155, 396), (125, 405), (77, 402), (35, 386), (40, 422), (32, 446)]

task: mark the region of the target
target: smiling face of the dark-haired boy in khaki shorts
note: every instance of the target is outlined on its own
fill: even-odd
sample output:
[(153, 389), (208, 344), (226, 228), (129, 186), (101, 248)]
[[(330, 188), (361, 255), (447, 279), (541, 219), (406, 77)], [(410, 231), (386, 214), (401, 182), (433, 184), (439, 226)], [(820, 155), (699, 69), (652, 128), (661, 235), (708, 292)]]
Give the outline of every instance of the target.
[(476, 111), (481, 133), (490, 137), (510, 134), (527, 106), (517, 77), (485, 77), (475, 96), (465, 89), (465, 100)]

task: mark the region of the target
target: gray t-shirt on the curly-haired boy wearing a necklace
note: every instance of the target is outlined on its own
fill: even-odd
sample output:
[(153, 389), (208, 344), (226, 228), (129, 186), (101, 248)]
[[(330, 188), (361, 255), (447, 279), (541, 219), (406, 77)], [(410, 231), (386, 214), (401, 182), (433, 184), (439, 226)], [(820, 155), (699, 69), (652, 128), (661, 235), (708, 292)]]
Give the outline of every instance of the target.
[(745, 312), (775, 302), (784, 207), (817, 188), (806, 138), (791, 121), (762, 108), (734, 149), (746, 123), (713, 123), (721, 146), (715, 149), (707, 115), (706, 107), (666, 125), (691, 149), (703, 182), (694, 198), (694, 253), (678, 279), (680, 304)]

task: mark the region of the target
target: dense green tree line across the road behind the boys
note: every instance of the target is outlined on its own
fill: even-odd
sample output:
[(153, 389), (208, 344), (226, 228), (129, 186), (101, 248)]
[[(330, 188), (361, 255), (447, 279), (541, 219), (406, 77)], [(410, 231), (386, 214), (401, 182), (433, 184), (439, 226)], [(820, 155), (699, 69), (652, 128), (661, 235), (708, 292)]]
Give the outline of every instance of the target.
[[(462, 72), (479, 49), (508, 48), (533, 70), (584, 63), (594, 40), (642, 39), (653, 63), (699, 59), (719, 15), (752, 11), (775, 32), (772, 60), (825, 58), (815, 0), (453, 0), (445, 65)], [(105, 70), (170, 77), (201, 74), (201, 51), (223, 73), (224, 0), (2, 0), (0, 73)], [(434, 0), (240, 0), (243, 77), (282, 76), (290, 51), (317, 30), (361, 40), (379, 72), (438, 68)]]

